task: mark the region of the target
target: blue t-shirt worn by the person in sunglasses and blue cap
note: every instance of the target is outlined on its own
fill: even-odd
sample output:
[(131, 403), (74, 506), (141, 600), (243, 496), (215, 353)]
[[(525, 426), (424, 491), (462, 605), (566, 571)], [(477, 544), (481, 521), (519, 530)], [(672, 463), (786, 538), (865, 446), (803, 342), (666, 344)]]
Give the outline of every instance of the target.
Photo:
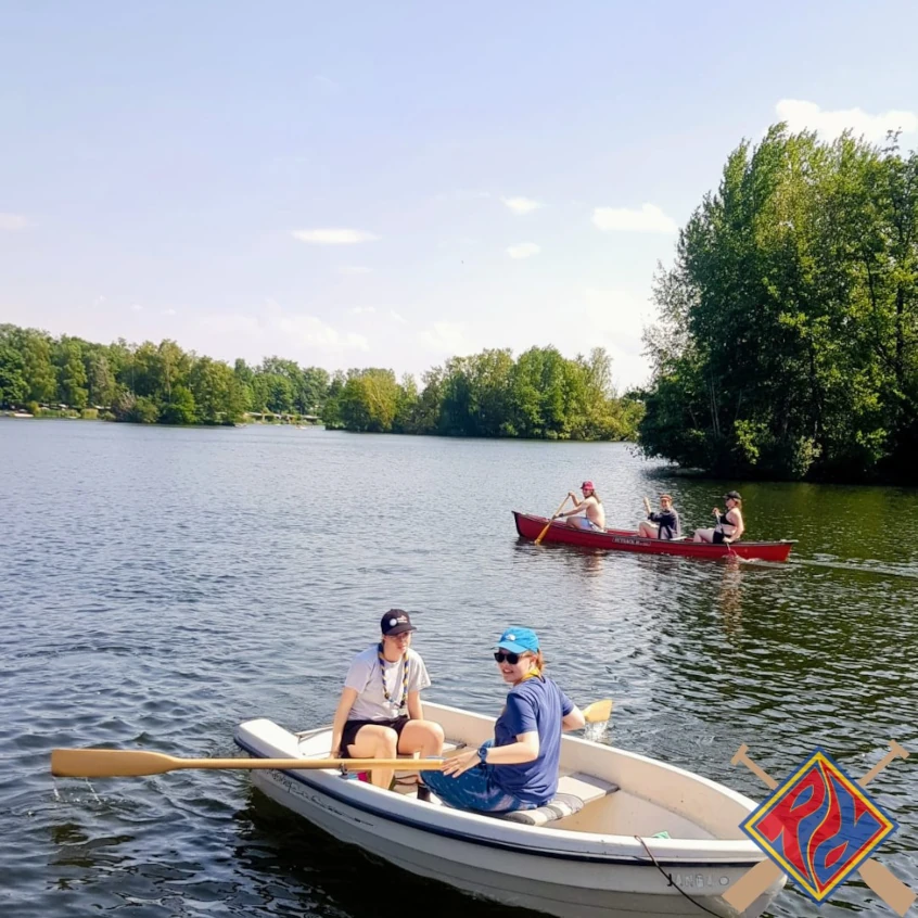
[(541, 806), (558, 790), (561, 719), (574, 704), (551, 679), (533, 677), (507, 696), (507, 706), (494, 725), (494, 744), (510, 745), (520, 734), (538, 732), (538, 756), (522, 765), (495, 765), (494, 780), (507, 791)]

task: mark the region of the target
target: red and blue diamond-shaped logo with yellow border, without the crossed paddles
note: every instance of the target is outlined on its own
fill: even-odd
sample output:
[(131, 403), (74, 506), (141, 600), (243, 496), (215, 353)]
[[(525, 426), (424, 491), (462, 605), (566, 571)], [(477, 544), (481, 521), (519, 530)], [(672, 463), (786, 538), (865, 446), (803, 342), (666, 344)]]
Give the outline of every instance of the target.
[(820, 904), (898, 825), (817, 747), (740, 828)]

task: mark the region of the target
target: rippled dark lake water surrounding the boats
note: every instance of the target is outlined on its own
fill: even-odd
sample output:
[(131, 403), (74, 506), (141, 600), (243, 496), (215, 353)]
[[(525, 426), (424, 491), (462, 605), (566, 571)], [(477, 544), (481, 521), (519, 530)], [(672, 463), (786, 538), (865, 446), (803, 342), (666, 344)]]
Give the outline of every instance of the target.
[[(530, 624), (578, 703), (614, 700), (605, 741), (755, 800), (742, 742), (781, 779), (817, 744), (859, 776), (895, 738), (915, 754), (870, 786), (900, 823), (878, 859), (918, 889), (914, 489), (692, 480), (623, 444), (13, 420), (0, 471), (4, 918), (519, 915), (393, 875), (244, 772), (50, 775), (53, 747), (233, 755), (243, 719), (328, 723), (392, 607), (431, 700), (498, 713), (492, 645)], [(512, 509), (587, 477), (609, 525), (663, 490), (709, 525), (738, 487), (749, 538), (799, 543), (737, 565), (518, 539)], [(773, 914), (843, 910), (892, 914), (859, 880), (821, 909), (789, 884)]]

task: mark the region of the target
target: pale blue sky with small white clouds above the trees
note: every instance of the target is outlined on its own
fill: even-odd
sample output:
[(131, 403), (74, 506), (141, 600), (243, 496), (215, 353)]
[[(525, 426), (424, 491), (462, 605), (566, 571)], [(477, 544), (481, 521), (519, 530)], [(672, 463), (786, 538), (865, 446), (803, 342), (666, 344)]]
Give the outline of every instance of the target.
[[(782, 117), (918, 145), (910, 2), (8, 2), (0, 321), (420, 374), (608, 348)], [(890, 114), (892, 113), (892, 114)]]

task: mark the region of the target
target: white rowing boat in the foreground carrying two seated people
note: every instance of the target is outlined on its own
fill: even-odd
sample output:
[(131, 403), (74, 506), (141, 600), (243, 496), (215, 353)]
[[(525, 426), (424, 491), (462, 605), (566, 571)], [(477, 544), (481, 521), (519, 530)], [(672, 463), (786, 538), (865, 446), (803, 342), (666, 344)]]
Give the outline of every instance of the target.
[[(443, 725), (445, 755), (494, 735), (494, 717), (432, 702), (424, 702), (424, 716)], [(235, 741), (253, 757), (324, 758), (331, 730), (293, 734), (256, 719), (237, 728)], [(739, 828), (755, 802), (673, 765), (573, 736), (562, 740), (556, 800), (512, 816), (452, 809), (435, 794), (418, 800), (413, 787), (382, 790), (336, 768), (253, 770), (252, 781), (341, 841), (412, 874), (558, 918), (699, 918), (704, 911), (696, 903), (724, 918), (755, 918), (787, 881), (781, 875), (736, 911), (723, 894), (765, 859)], [(670, 838), (653, 838), (660, 832)]]

